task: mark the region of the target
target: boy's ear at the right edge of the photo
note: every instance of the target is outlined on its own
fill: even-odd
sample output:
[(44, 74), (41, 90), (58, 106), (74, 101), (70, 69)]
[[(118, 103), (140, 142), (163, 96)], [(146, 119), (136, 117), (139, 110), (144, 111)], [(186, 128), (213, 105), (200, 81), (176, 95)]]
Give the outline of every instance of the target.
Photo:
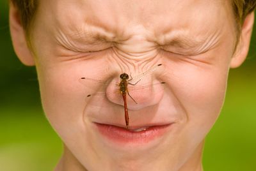
[(237, 68), (246, 59), (250, 47), (253, 22), (254, 12), (249, 13), (244, 20), (243, 26), (241, 28), (241, 35), (239, 36), (239, 42), (236, 47), (236, 52), (231, 59), (230, 68)]

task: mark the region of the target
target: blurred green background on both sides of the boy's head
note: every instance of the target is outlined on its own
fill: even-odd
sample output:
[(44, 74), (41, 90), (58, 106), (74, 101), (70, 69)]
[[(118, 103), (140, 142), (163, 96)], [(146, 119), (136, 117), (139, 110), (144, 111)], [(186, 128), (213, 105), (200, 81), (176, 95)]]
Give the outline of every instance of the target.
[[(15, 56), (0, 1), (0, 170), (52, 170), (61, 140), (45, 119), (34, 67)], [(205, 171), (256, 170), (256, 25), (245, 63), (230, 70), (225, 105), (206, 139)]]

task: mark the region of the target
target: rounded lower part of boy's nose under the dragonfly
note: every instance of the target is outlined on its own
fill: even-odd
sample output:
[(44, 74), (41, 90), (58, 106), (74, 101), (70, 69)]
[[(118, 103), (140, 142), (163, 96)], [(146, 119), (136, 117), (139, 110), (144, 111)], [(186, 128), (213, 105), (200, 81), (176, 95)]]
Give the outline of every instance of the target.
[(165, 83), (153, 76), (136, 78), (136, 80), (121, 79), (121, 81), (127, 81), (124, 91), (120, 89), (120, 84), (116, 87), (109, 84), (106, 89), (107, 98), (118, 105), (125, 106), (125, 103), (127, 103), (129, 110), (140, 110), (156, 105), (163, 98)]

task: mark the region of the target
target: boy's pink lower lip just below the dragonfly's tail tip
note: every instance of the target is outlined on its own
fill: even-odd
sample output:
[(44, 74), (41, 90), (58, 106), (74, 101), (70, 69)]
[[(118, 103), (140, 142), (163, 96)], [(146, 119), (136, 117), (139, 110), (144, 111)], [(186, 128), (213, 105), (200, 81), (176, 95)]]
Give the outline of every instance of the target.
[(171, 124), (151, 126), (143, 131), (129, 131), (125, 128), (109, 124), (95, 123), (100, 134), (109, 140), (121, 144), (145, 144), (157, 138), (163, 137)]

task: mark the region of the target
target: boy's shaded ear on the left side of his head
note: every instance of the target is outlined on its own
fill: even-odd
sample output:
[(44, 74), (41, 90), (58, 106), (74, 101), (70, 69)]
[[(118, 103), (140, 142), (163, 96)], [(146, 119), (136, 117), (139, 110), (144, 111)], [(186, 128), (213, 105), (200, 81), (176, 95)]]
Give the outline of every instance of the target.
[(19, 11), (10, 3), (10, 33), (15, 53), (20, 61), (28, 66), (35, 65), (33, 55), (26, 41), (25, 31), (20, 22)]

